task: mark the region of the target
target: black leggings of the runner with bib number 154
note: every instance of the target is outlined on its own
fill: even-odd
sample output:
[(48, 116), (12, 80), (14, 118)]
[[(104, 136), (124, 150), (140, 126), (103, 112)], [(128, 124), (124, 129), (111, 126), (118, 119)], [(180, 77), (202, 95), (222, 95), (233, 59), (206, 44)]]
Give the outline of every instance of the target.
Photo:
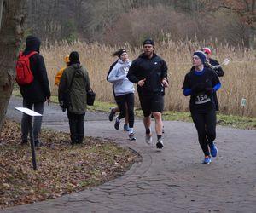
[(205, 156), (209, 155), (208, 145), (216, 138), (216, 111), (206, 113), (191, 112), (193, 122), (198, 134), (198, 140)]

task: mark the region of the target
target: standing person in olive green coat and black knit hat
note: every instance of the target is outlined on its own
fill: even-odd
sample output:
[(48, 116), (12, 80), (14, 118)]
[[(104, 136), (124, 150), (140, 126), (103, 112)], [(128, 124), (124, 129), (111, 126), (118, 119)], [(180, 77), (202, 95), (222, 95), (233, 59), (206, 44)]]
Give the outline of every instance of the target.
[[(73, 78), (74, 75), (74, 78)], [(69, 122), (71, 144), (82, 143), (84, 141), (84, 116), (87, 107), (87, 91), (90, 89), (90, 78), (86, 69), (80, 65), (79, 53), (71, 52), (69, 64), (64, 70), (59, 84), (58, 97), (61, 101), (62, 95), (70, 89), (70, 106), (67, 108), (67, 118)]]

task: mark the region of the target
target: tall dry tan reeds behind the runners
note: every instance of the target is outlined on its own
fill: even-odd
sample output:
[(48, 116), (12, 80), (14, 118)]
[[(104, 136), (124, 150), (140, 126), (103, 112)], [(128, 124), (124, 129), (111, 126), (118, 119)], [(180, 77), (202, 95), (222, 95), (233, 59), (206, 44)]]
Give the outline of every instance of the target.
[[(156, 53), (160, 55), (168, 65), (168, 77), (171, 86), (166, 89), (165, 109), (175, 111), (189, 110), (189, 97), (183, 96), (183, 78), (191, 67), (191, 55), (196, 49), (205, 46), (205, 43), (191, 41), (172, 42), (170, 38), (156, 44)], [(234, 48), (223, 45), (218, 41), (211, 43), (213, 47), (212, 57), (219, 62), (229, 58), (230, 64), (224, 66), (224, 77), (220, 78), (222, 88), (218, 90), (220, 111), (227, 114), (241, 114), (256, 116), (256, 60), (255, 52), (244, 48)], [(120, 47), (109, 47), (99, 43), (73, 44), (55, 43), (49, 48), (42, 49), (47, 66), (49, 82), (52, 93), (57, 95), (57, 87), (54, 84), (55, 73), (65, 66), (64, 56), (71, 51), (79, 52), (80, 61), (90, 75), (92, 89), (96, 91), (98, 101), (113, 101), (112, 85), (106, 81), (109, 66), (113, 63), (112, 53)], [(142, 49), (125, 44), (130, 59), (134, 60), (142, 52)], [(241, 98), (247, 99), (247, 105), (242, 112)], [(137, 106), (138, 100), (136, 98)]]

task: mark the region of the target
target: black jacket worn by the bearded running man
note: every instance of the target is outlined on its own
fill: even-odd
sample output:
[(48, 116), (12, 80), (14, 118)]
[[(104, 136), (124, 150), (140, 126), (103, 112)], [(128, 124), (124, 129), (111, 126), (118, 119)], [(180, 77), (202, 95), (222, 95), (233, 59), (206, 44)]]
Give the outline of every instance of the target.
[(132, 83), (138, 83), (146, 78), (143, 87), (137, 85), (139, 94), (152, 94), (155, 92), (163, 92), (164, 87), (162, 80), (167, 79), (166, 61), (162, 60), (158, 55), (154, 54), (151, 59), (142, 54), (137, 60), (134, 60), (130, 66), (127, 78)]

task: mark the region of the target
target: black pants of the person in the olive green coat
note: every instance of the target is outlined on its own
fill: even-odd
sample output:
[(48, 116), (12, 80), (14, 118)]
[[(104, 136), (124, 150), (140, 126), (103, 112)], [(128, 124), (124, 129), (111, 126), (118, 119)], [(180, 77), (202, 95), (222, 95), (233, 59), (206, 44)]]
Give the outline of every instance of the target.
[(67, 112), (70, 138), (72, 143), (82, 143), (84, 140), (84, 114)]

